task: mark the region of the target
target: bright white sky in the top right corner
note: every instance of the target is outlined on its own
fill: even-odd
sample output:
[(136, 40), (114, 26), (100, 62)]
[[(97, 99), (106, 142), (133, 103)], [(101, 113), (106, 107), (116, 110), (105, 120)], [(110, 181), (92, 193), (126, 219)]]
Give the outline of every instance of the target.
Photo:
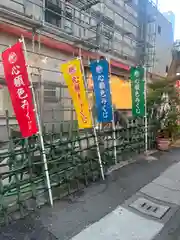
[(180, 0), (158, 0), (158, 7), (161, 12), (172, 11), (175, 14), (174, 38), (180, 39)]

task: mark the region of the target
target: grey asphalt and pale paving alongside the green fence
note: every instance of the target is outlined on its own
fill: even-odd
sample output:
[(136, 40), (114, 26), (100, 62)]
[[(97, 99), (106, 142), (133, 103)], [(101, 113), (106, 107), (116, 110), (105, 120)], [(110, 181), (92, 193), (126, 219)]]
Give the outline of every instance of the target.
[[(157, 157), (123, 167), (75, 198), (2, 228), (0, 240), (180, 240), (180, 150)], [(157, 219), (130, 208), (139, 197), (165, 205), (167, 214)]]

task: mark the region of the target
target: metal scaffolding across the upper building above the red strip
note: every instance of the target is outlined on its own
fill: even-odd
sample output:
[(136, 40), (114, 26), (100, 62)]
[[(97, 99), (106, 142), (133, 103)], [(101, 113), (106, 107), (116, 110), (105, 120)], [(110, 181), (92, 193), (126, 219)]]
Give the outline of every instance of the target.
[(126, 0), (3, 0), (0, 17), (134, 65), (139, 41), (136, 9)]

